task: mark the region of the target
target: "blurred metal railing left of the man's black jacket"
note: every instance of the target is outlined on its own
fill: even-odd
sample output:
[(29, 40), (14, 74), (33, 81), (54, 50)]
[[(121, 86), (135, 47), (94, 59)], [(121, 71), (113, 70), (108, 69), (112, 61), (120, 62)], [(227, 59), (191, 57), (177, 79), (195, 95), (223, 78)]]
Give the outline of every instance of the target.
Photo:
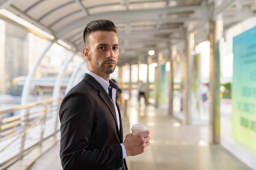
[(0, 109), (0, 170), (22, 159), (49, 138), (56, 138), (63, 98)]

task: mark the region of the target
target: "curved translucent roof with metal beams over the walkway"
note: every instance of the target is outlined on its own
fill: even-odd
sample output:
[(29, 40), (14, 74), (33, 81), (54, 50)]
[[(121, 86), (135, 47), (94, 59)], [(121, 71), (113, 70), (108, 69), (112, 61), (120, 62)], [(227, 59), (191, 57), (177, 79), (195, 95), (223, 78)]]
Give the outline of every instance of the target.
[[(255, 0), (2, 0), (0, 6), (77, 52), (82, 52), (88, 22), (112, 20), (118, 28), (121, 64), (137, 63), (138, 56), (146, 59), (148, 50), (170, 49), (168, 42), (185, 40), (184, 31), (194, 32), (195, 44), (199, 44), (208, 39), (209, 21), (218, 14), (225, 30), (253, 17), (256, 9)], [(183, 48), (177, 46), (181, 54)]]

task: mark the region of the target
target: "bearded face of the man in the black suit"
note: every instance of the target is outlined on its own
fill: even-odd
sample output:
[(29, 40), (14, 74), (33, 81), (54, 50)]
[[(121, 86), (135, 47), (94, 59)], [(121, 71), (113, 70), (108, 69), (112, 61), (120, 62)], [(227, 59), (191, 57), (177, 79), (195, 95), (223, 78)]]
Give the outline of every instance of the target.
[(101, 76), (114, 72), (119, 57), (117, 35), (111, 31), (96, 31), (89, 35), (89, 43), (83, 49), (89, 59), (88, 69)]

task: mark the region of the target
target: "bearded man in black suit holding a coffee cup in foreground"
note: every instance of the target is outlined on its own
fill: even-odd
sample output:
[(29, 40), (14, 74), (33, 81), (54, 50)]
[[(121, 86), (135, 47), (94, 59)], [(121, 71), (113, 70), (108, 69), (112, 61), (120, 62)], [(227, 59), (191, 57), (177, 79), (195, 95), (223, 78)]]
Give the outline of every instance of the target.
[(123, 142), (116, 87), (110, 81), (119, 57), (116, 32), (110, 20), (95, 20), (85, 27), (83, 55), (88, 70), (67, 93), (59, 111), (64, 170), (127, 170), (125, 158), (143, 153), (150, 144), (149, 131), (130, 133)]

